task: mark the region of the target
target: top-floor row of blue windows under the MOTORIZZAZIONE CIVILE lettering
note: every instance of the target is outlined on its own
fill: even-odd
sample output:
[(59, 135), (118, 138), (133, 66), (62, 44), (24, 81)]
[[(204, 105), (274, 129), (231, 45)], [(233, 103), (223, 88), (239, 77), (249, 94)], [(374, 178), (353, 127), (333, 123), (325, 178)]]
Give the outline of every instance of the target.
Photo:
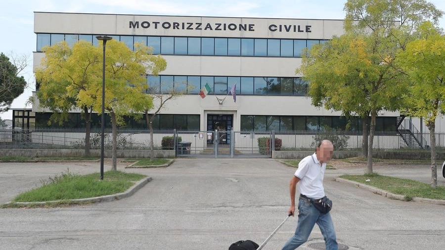
[[(217, 55), (217, 56), (269, 56), (301, 57), (305, 48), (326, 40), (262, 39), (262, 38), (197, 38), (197, 37), (146, 37), (110, 36), (124, 42), (130, 49), (140, 42), (153, 47), (153, 54), (162, 55)], [(37, 34), (37, 51), (48, 45), (65, 41), (70, 46), (85, 40), (97, 46), (95, 35)]]

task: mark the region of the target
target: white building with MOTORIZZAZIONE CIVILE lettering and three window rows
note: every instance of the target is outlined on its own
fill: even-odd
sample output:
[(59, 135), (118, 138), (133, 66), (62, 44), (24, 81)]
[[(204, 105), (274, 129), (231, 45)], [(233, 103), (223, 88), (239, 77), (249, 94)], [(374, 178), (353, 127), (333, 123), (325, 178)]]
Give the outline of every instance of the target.
[[(34, 68), (44, 57), (42, 47), (61, 41), (97, 45), (95, 36), (107, 35), (130, 48), (134, 42), (153, 46), (154, 54), (167, 60), (167, 69), (148, 77), (150, 87), (194, 86), (167, 103), (155, 129), (318, 130), (345, 129), (349, 123), (350, 129), (361, 130), (359, 119), (347, 121), (339, 112), (313, 107), (307, 83), (295, 74), (303, 49), (341, 35), (342, 20), (35, 12), (34, 32)], [(206, 83), (212, 91), (201, 98)], [(235, 84), (236, 102), (230, 92)], [(38, 102), (31, 113), (36, 126), (47, 126), (50, 113)], [(379, 114), (376, 130), (396, 130), (399, 116)], [(93, 126), (100, 126), (94, 119)], [(143, 123), (129, 120), (127, 126)], [(82, 127), (80, 114), (73, 111), (66, 126)]]

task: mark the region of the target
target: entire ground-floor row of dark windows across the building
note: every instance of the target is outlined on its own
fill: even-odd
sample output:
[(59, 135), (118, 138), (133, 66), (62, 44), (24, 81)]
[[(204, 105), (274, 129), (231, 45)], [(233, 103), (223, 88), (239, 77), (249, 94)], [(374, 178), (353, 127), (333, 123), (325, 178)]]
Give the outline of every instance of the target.
[[(36, 127), (67, 127), (67, 128), (84, 128), (85, 120), (80, 113), (70, 113), (68, 120), (62, 125), (52, 123), (48, 125), (47, 122), (51, 113), (36, 113)], [(223, 129), (227, 127), (231, 116), (227, 116), (230, 120), (223, 121), (217, 115), (214, 119), (208, 119), (208, 123), (216, 121), (221, 123)], [(396, 117), (377, 117), (376, 131), (395, 131)], [(100, 128), (100, 116), (97, 114), (91, 115), (91, 127)], [(145, 119), (134, 120), (131, 117), (125, 117), (126, 125), (121, 128), (147, 128)], [(212, 122), (213, 123), (213, 122)], [(178, 130), (200, 130), (200, 115), (157, 115), (152, 121), (153, 129), (178, 129)], [(220, 125), (220, 124), (212, 124)], [(111, 127), (111, 122), (108, 114), (105, 117), (105, 126)], [(241, 131), (289, 131), (289, 130), (326, 130), (326, 129), (340, 129), (340, 130), (362, 130), (361, 118), (347, 119), (342, 116), (241, 116)]]

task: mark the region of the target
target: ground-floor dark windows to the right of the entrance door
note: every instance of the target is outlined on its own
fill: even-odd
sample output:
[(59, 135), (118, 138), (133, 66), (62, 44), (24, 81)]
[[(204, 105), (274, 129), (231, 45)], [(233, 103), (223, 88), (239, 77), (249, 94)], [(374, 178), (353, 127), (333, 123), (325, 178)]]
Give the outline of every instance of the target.
[[(396, 117), (377, 117), (375, 131), (395, 131)], [(343, 116), (241, 116), (241, 131), (362, 130), (362, 119)]]

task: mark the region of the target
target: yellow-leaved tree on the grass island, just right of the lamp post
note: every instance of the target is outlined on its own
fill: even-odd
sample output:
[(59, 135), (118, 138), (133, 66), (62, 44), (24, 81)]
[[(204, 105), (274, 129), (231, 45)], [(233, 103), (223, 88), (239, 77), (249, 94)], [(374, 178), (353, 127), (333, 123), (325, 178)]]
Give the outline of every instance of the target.
[[(134, 51), (124, 42), (111, 40), (106, 44), (105, 110), (110, 113), (113, 131), (112, 170), (117, 169), (117, 126), (124, 125), (124, 116), (137, 116), (153, 106), (152, 96), (145, 93), (146, 75), (157, 75), (167, 63), (161, 55), (154, 56), (151, 48), (134, 44)], [(102, 71), (100, 71), (102, 72)], [(81, 90), (78, 103), (91, 106), (101, 113), (102, 75), (94, 75), (93, 85)], [(99, 98), (100, 97), (100, 98)]]

